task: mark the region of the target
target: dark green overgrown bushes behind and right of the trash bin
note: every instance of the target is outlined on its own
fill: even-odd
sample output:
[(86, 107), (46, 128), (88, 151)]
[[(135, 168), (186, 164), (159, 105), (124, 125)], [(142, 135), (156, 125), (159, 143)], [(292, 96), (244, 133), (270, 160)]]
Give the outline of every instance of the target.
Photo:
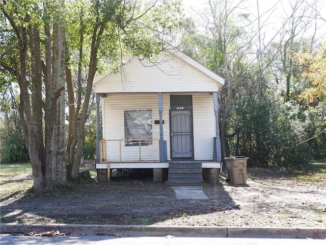
[(248, 156), (251, 166), (279, 168), (325, 157), (319, 149), (326, 146), (325, 139), (304, 142), (312, 134), (312, 123), (297, 105), (247, 95), (237, 101), (230, 114), (226, 157)]

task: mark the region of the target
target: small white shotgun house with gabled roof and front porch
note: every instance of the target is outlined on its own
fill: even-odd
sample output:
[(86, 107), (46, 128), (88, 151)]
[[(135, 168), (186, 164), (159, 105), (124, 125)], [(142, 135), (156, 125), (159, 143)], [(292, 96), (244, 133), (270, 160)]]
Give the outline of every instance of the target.
[(122, 72), (96, 77), (98, 180), (110, 180), (115, 168), (153, 168), (159, 181), (173, 163), (219, 169), (223, 85), (223, 78), (177, 50), (165, 51), (155, 63), (134, 57)]

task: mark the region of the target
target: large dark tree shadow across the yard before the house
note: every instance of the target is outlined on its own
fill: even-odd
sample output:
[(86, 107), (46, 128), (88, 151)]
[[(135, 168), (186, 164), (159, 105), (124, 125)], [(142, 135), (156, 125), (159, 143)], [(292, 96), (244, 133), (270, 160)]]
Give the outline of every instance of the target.
[(203, 190), (209, 200), (177, 200), (173, 189), (164, 183), (135, 177), (74, 184), (2, 203), (1, 222), (151, 225), (239, 208), (222, 184), (204, 182)]

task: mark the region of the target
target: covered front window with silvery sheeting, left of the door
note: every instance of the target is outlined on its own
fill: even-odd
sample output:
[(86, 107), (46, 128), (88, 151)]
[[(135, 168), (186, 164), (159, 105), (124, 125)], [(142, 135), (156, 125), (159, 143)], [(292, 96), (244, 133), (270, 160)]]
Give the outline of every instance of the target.
[[(152, 111), (130, 110), (124, 112), (126, 145), (152, 144)], [(141, 141), (139, 141), (141, 140)]]

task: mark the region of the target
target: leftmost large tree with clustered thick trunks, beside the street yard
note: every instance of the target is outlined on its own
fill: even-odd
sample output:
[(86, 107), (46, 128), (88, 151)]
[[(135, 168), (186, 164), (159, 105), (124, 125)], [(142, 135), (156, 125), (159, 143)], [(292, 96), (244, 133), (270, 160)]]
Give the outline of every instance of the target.
[[(65, 51), (63, 43), (59, 44), (64, 35), (64, 31), (60, 30), (64, 26), (59, 18), (62, 16), (62, 6), (63, 1), (3, 1), (1, 5), (3, 17), (8, 23), (8, 36), (11, 36), (10, 33), (15, 36), (11, 54), (8, 55), (17, 57), (15, 62), (2, 59), (1, 66), (16, 78), (19, 85), (19, 113), (32, 162), (33, 188), (38, 192), (51, 190), (57, 184), (65, 184), (66, 178), (64, 170), (60, 171), (62, 176), (55, 175), (55, 178), (52, 173), (52, 169), (59, 168), (56, 154), (60, 147), (58, 148), (57, 143), (61, 138), (65, 139), (64, 131), (53, 133), (56, 121), (64, 120), (56, 113), (58, 98), (64, 90), (64, 87), (57, 88), (63, 81), (61, 75), (64, 63), (61, 63)], [(41, 34), (46, 40), (41, 40)], [(44, 50), (41, 48), (43, 43)], [(58, 107), (58, 110), (64, 110), (64, 107)], [(63, 165), (65, 169), (66, 164)]]

